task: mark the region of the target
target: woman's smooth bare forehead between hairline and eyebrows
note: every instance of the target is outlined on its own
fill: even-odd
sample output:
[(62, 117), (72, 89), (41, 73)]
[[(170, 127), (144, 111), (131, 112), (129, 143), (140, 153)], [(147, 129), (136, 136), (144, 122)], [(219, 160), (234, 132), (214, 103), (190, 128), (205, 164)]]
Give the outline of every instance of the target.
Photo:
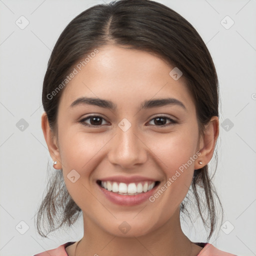
[(110, 99), (120, 107), (168, 96), (192, 107), (185, 79), (174, 80), (169, 74), (174, 66), (160, 57), (125, 46), (105, 45), (97, 50), (74, 66), (77, 73), (64, 88), (60, 107), (68, 108), (80, 96)]

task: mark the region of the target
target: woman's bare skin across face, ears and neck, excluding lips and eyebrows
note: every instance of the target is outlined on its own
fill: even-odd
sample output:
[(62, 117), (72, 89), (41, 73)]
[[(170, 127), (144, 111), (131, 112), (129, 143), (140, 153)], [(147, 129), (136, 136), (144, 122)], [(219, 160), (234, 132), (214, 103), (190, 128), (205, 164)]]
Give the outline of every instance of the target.
[[(193, 170), (212, 157), (218, 118), (213, 116), (199, 136), (193, 99), (183, 77), (174, 80), (169, 75), (173, 66), (125, 46), (105, 45), (98, 50), (64, 88), (57, 133), (51, 132), (45, 113), (41, 118), (50, 155), (58, 162), (54, 167), (62, 168), (67, 190), (83, 213), (84, 235), (76, 256), (197, 255), (202, 247), (182, 232), (179, 205)], [(70, 107), (80, 96), (111, 100), (117, 107)], [(173, 104), (139, 110), (144, 100), (166, 97), (178, 99), (185, 109)], [(176, 123), (169, 119), (154, 122), (153, 118), (163, 114)], [(89, 115), (101, 116), (101, 125), (79, 122)], [(125, 132), (118, 127), (123, 118), (131, 124)], [(89, 118), (84, 122), (93, 124)], [(160, 188), (197, 151), (200, 156), (154, 202), (118, 205), (106, 199), (96, 184), (108, 176), (140, 175), (160, 181)], [(72, 169), (80, 175), (74, 183), (67, 178)], [(118, 228), (123, 221), (131, 227), (125, 234)], [(75, 245), (66, 248), (68, 256), (74, 255)]]

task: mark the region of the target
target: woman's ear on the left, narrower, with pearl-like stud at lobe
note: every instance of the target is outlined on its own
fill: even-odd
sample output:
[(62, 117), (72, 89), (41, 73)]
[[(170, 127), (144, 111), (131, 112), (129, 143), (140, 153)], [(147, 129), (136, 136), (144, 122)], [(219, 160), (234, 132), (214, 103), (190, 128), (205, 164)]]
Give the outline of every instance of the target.
[(46, 112), (43, 112), (41, 115), (41, 127), (44, 135), (44, 139), (47, 143), (48, 150), (50, 153), (50, 157), (53, 161), (57, 161), (57, 163), (53, 166), (55, 169), (61, 169), (61, 160), (60, 153), (57, 145), (56, 136), (53, 134), (50, 129), (48, 118)]

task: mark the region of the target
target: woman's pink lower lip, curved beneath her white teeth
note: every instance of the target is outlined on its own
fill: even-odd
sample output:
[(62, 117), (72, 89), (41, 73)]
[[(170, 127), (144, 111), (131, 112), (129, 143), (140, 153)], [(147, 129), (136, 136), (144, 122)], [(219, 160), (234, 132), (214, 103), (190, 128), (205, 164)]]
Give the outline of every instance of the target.
[(140, 194), (135, 194), (135, 195), (117, 194), (117, 193), (106, 190), (105, 188), (101, 187), (99, 184), (97, 185), (99, 186), (100, 190), (104, 193), (106, 198), (111, 202), (119, 205), (131, 206), (131, 205), (137, 205), (146, 201), (154, 193), (154, 191), (156, 190), (159, 184), (157, 184), (147, 192), (142, 192)]

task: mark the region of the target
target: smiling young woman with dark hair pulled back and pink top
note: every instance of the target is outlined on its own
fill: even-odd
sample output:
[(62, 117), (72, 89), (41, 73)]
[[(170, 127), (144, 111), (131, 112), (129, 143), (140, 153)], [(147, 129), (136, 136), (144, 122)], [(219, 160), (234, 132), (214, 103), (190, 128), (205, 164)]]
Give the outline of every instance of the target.
[(56, 174), (37, 229), (46, 237), (45, 218), (53, 231), (82, 213), (84, 233), (37, 256), (233, 255), (180, 226), (191, 191), (207, 241), (215, 229), (219, 123), (214, 64), (178, 13), (149, 0), (83, 11), (52, 50), (42, 103)]

